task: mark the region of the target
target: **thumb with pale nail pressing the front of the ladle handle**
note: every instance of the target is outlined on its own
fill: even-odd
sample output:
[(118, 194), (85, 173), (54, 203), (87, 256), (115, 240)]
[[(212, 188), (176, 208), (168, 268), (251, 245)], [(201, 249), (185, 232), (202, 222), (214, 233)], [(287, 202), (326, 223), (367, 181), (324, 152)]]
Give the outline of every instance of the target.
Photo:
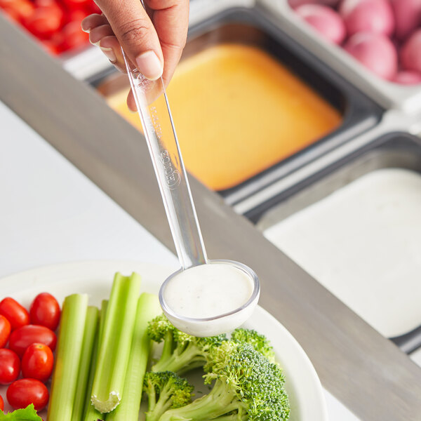
[(123, 47), (147, 79), (163, 72), (163, 54), (158, 35), (140, 0), (95, 0)]

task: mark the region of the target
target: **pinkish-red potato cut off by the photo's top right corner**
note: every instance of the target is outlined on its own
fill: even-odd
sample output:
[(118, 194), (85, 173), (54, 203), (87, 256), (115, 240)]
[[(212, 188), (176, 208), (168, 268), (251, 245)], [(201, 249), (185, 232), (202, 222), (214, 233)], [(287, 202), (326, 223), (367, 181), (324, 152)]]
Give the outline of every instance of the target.
[(396, 37), (405, 39), (421, 24), (421, 0), (390, 0), (395, 15)]

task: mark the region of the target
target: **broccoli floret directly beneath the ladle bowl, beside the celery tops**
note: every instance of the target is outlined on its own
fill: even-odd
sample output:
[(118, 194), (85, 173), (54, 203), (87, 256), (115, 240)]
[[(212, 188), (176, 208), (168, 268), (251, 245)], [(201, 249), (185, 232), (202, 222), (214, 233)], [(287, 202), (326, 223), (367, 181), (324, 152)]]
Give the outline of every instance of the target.
[(149, 322), (149, 338), (163, 341), (162, 354), (152, 371), (174, 371), (179, 375), (197, 367), (203, 367), (211, 349), (227, 341), (225, 334), (196, 338), (175, 328), (164, 314)]

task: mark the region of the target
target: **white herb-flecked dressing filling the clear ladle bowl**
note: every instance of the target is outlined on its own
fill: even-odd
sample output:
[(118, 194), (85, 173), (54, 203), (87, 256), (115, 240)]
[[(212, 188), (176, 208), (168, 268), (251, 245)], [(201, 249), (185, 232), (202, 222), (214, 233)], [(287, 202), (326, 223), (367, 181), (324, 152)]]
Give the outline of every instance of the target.
[(239, 309), (253, 294), (253, 279), (233, 265), (211, 263), (176, 274), (163, 298), (178, 316), (207, 319)]

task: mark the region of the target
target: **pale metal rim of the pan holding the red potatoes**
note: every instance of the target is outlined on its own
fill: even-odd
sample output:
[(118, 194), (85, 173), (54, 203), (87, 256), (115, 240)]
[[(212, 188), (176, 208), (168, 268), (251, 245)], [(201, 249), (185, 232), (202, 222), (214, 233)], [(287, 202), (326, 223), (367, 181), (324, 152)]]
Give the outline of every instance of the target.
[(326, 65), (335, 69), (382, 107), (399, 108), (413, 114), (421, 111), (421, 84), (403, 86), (375, 76), (340, 46), (323, 39), (290, 8), (288, 0), (258, 1), (272, 11), (274, 20), (279, 22), (289, 36), (312, 51), (314, 55), (326, 62)]

